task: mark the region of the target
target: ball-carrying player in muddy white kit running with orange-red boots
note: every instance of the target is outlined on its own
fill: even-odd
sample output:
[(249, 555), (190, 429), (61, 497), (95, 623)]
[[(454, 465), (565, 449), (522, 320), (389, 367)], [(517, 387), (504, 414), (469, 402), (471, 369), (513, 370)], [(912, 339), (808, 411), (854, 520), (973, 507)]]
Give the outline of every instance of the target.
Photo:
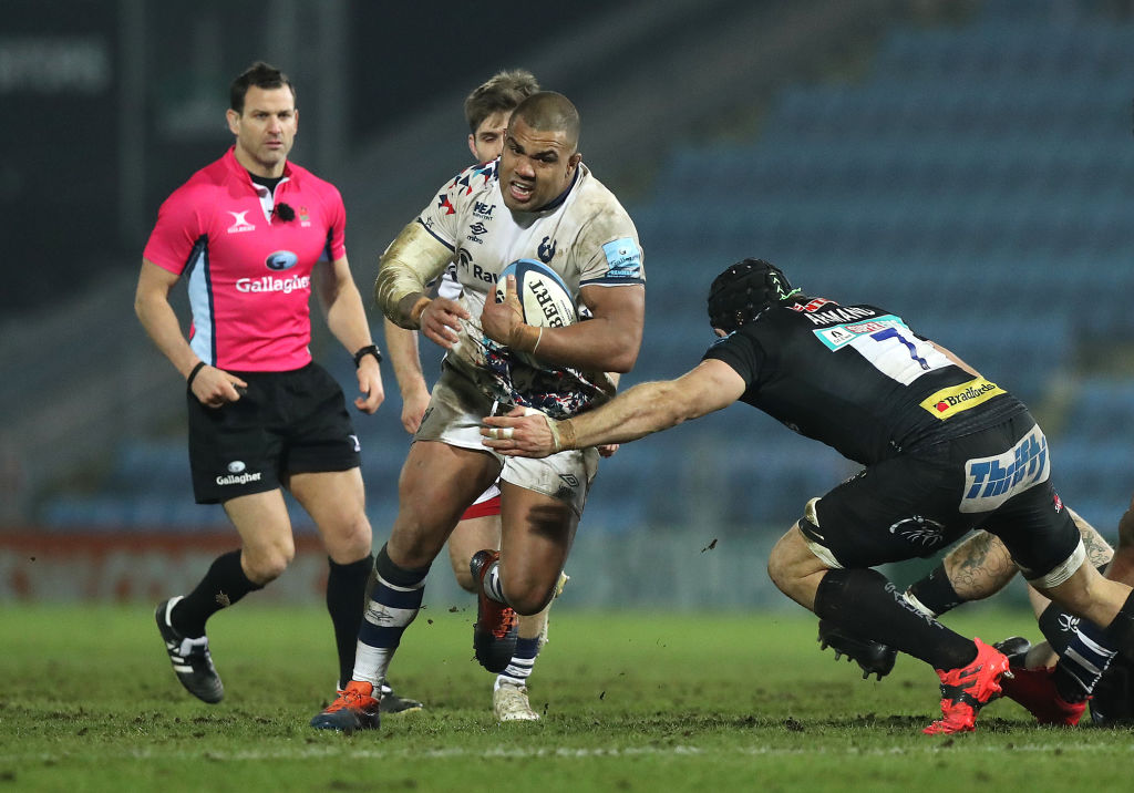
[[(507, 668), (516, 615), (539, 614), (553, 597), (599, 453), (506, 459), (483, 446), (480, 421), (494, 407), (519, 405), (575, 415), (610, 397), (606, 372), (629, 371), (637, 360), (645, 307), (637, 231), (582, 163), (578, 133), (567, 98), (528, 96), (513, 112), (500, 160), (446, 184), (382, 255), (375, 297), (386, 315), (448, 352), (401, 470), (390, 539), (375, 558), (354, 680), (312, 719), (314, 727), (379, 726), (374, 691), (421, 608), (429, 567), (467, 505), (498, 478), (500, 550), (485, 548), (471, 565), (481, 664)], [(591, 319), (526, 324), (514, 281), (507, 300), (488, 300), (500, 271), (519, 259), (555, 270)], [(430, 298), (426, 285), (450, 261), (460, 298)]]

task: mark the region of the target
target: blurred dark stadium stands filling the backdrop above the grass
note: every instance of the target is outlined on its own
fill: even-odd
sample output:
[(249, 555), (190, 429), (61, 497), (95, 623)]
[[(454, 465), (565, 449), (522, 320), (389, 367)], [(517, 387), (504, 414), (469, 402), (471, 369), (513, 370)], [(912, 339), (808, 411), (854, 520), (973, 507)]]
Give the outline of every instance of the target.
[[(1023, 396), (1065, 500), (1114, 537), (1134, 491), (1132, 53), (1117, 0), (7, 0), (0, 601), (164, 597), (235, 540), (192, 504), (180, 383), (133, 288), (159, 203), (229, 144), (228, 82), (255, 59), (296, 83), (293, 159), (342, 191), (364, 294), (466, 163), (465, 93), (523, 66), (579, 107), (584, 158), (638, 226), (646, 340), (626, 383), (692, 365), (709, 279), (764, 256), (809, 293), (908, 313)], [(349, 385), (333, 339), (315, 347)], [(389, 373), (387, 394), (357, 421), (375, 542), (407, 442)], [(790, 608), (768, 547), (853, 471), (743, 407), (626, 447), (564, 606)], [(265, 598), (318, 596), (296, 518), (303, 552)], [(450, 579), (430, 597), (459, 598)]]

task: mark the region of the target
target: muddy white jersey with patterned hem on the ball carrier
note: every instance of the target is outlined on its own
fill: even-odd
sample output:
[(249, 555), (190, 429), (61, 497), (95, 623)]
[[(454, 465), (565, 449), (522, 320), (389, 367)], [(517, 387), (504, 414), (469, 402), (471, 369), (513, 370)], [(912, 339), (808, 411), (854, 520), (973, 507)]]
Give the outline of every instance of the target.
[(447, 361), (493, 399), (544, 411), (556, 419), (609, 397), (606, 373), (534, 368), (481, 330), (484, 301), (500, 271), (518, 259), (534, 259), (559, 273), (582, 309), (584, 286), (645, 284), (642, 247), (626, 210), (579, 163), (575, 182), (539, 212), (511, 212), (503, 203), (499, 160), (457, 175), (418, 216), (417, 222), (452, 251), (462, 286), (460, 302), (471, 319)]

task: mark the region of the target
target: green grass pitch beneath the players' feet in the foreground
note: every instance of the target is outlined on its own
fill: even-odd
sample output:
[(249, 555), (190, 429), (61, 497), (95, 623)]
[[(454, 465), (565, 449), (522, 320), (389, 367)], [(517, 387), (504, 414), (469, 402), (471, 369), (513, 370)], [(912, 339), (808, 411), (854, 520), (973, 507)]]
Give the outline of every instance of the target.
[[(464, 608), (464, 606), (463, 606)], [(989, 640), (1024, 614), (951, 619)], [(1039, 728), (999, 701), (975, 734), (921, 734), (936, 676), (900, 658), (881, 683), (820, 652), (798, 615), (561, 608), (536, 667), (538, 724), (498, 725), (469, 613), (425, 610), (392, 682), (428, 709), (354, 736), (307, 719), (333, 685), (318, 608), (243, 604), (210, 625), (227, 695), (175, 682), (150, 607), (0, 610), (0, 793), (136, 791), (1124, 790), (1127, 729)]]

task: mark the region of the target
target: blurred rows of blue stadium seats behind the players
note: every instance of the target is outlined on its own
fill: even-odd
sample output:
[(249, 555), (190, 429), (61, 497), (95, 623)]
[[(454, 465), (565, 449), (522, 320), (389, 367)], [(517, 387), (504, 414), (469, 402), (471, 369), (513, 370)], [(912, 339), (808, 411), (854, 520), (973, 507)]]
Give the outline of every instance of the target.
[[(1134, 25), (1105, 6), (997, 0), (948, 25), (896, 26), (864, 74), (784, 87), (748, 140), (676, 146), (628, 205), (648, 297), (625, 386), (696, 363), (710, 341), (709, 281), (750, 255), (810, 294), (913, 318), (1033, 405), (1084, 353), (1105, 360), (1134, 331), (1115, 298), (1134, 295)], [(320, 360), (353, 393), (349, 358), (331, 351)], [(397, 509), (408, 442), (387, 387), (383, 411), (356, 419), (378, 535)], [(1112, 440), (1134, 425), (1131, 404), (1124, 383), (1086, 381), (1053, 439), (1068, 500), (1090, 520), (1112, 523), (1134, 490), (1128, 444)], [(736, 410), (604, 461), (582, 530), (689, 525), (704, 511), (737, 525), (790, 521), (846, 473), (833, 453)], [(758, 422), (759, 444), (737, 441), (737, 422)], [(180, 441), (124, 445), (104, 489), (58, 497), (43, 520), (176, 528), (204, 514)]]

